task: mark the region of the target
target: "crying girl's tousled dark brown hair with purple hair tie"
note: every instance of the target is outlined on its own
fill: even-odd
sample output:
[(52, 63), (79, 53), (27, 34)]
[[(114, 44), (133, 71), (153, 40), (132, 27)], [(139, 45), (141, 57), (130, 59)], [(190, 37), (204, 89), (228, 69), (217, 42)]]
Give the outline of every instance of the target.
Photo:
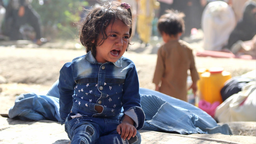
[[(129, 34), (131, 36), (132, 14), (130, 8), (125, 9), (121, 6), (120, 2), (116, 1), (96, 4), (92, 7), (92, 10), (90, 10), (84, 18), (79, 29), (80, 41), (82, 45), (86, 47), (86, 52), (91, 50), (93, 56), (96, 56), (96, 46), (102, 45), (104, 40), (108, 37), (105, 33), (106, 27), (109, 24), (113, 24), (115, 20), (121, 20), (124, 24), (129, 26)], [(98, 39), (100, 34), (102, 38)]]

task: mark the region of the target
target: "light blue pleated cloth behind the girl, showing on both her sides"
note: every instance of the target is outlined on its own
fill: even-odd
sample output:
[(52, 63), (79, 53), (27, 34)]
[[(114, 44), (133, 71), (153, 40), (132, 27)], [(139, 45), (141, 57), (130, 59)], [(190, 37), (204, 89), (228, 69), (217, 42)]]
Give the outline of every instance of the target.
[[(37, 96), (34, 94), (34, 96), (45, 98), (46, 100), (49, 100), (50, 98), (58, 97), (58, 81), (54, 83), (54, 85), (51, 87), (49, 92), (44, 96)], [(178, 132), (179, 134), (196, 134), (196, 133), (208, 133), (208, 134), (215, 134), (215, 133), (221, 133), (225, 135), (232, 135), (232, 131), (228, 124), (223, 124), (222, 126), (218, 125), (216, 121), (205, 111), (199, 109), (198, 107), (191, 105), (187, 102), (184, 102), (182, 100), (170, 97), (166, 94), (146, 89), (146, 88), (140, 88), (140, 94), (141, 94), (141, 107), (145, 113), (146, 119), (144, 126), (142, 130), (152, 130), (152, 131), (169, 131), (169, 132)], [(27, 95), (27, 94), (24, 94)], [(31, 95), (31, 93), (29, 93)], [(48, 95), (52, 95), (48, 96)], [(21, 95), (22, 96), (22, 95)], [(20, 97), (20, 96), (19, 96)], [(19, 98), (18, 97), (18, 98)], [(18, 99), (17, 98), (17, 99)], [(25, 101), (28, 101), (27, 103)], [(54, 98), (54, 100), (58, 100)], [(10, 118), (14, 118), (15, 116), (19, 116), (19, 118), (27, 118), (31, 119), (33, 113), (24, 113), (23, 111), (28, 111), (29, 108), (31, 108), (30, 111), (33, 110), (32, 103), (29, 99), (24, 99), (23, 105), (20, 105), (22, 101), (16, 100), (15, 105), (9, 110), (9, 116), (12, 116)], [(47, 101), (39, 101), (42, 103), (45, 103)], [(56, 101), (57, 102), (57, 101)], [(51, 103), (51, 100), (49, 100), (49, 103)], [(35, 103), (36, 105), (41, 105), (39, 103)], [(51, 111), (55, 111), (57, 114), (55, 119), (58, 119), (59, 121), (59, 115), (58, 115), (58, 108), (59, 105), (54, 103), (55, 105), (51, 105), (49, 108)], [(30, 106), (31, 105), (31, 106)], [(52, 107), (53, 106), (53, 107)], [(48, 106), (46, 106), (48, 107)], [(47, 118), (44, 118), (43, 116), (36, 117), (37, 119), (32, 120), (40, 120), (42, 119), (49, 119), (50, 116), (52, 116), (52, 112), (45, 112), (44, 109), (42, 110), (43, 116), (46, 116)], [(38, 112), (40, 114), (41, 112)], [(26, 115), (23, 115), (26, 114)], [(48, 115), (49, 114), (49, 115)], [(53, 120), (53, 119), (50, 119)], [(56, 121), (56, 120), (55, 120)]]

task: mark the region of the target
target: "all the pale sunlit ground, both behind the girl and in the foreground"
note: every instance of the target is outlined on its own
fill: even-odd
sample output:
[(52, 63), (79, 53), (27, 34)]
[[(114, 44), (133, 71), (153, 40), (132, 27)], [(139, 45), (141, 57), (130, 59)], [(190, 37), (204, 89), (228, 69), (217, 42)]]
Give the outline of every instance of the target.
[[(198, 44), (196, 44), (198, 46)], [(132, 46), (132, 45), (131, 45)], [(140, 82), (140, 87), (154, 89), (152, 77), (156, 65), (157, 48), (136, 47), (125, 52), (124, 56), (134, 61)], [(61, 47), (63, 48), (63, 47)], [(14, 48), (0, 46), (0, 75), (7, 80), (7, 84), (0, 84), (1, 113), (8, 113), (14, 105), (15, 95), (27, 92), (41, 92), (50, 88), (59, 75), (59, 70), (66, 62), (84, 55), (86, 52), (70, 49), (49, 48)], [(255, 60), (235, 58), (195, 57), (196, 67), (223, 67), (239, 76), (255, 70)], [(255, 123), (255, 122), (254, 122)], [(194, 134), (177, 135), (153, 131), (140, 131), (142, 143), (256, 143), (256, 127), (247, 122), (231, 125), (235, 135), (222, 134)], [(253, 134), (254, 132), (254, 134)], [(247, 135), (247, 136), (242, 136)], [(64, 126), (57, 122), (21, 121), (0, 117), (0, 143), (68, 143), (70, 140)]]

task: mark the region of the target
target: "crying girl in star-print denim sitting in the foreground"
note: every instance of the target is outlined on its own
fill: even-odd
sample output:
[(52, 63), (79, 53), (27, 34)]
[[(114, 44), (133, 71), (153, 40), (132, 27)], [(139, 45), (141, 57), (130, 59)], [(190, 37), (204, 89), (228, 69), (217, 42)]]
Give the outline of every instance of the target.
[[(60, 70), (60, 117), (71, 144), (140, 143), (143, 127), (138, 75), (122, 57), (132, 33), (130, 5), (95, 5), (80, 28), (87, 54)], [(121, 110), (123, 108), (123, 115)]]

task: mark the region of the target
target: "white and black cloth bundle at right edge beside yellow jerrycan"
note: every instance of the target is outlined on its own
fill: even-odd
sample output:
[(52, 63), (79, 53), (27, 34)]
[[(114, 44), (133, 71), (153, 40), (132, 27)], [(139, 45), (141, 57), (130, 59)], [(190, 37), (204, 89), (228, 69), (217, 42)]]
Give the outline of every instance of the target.
[(256, 71), (233, 77), (221, 89), (223, 103), (215, 112), (219, 122), (256, 121)]

